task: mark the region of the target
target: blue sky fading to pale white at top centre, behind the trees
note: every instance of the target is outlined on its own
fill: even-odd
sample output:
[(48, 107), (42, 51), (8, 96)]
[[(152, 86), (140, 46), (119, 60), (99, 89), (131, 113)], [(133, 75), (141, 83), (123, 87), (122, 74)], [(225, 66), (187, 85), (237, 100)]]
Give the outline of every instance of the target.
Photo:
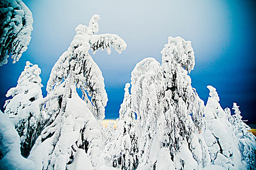
[(240, 105), (244, 119), (256, 123), (256, 5), (253, 0), (23, 0), (33, 14), (32, 39), (20, 61), (0, 67), (0, 108), (5, 94), (17, 85), (25, 62), (38, 64), (46, 95), (51, 68), (67, 50), (78, 24), (101, 17), (99, 33), (118, 34), (127, 43), (121, 54), (92, 55), (105, 79), (109, 102), (106, 118), (118, 118), (124, 85), (146, 57), (161, 62), (168, 36), (192, 41), (196, 66), (192, 86), (207, 102), (207, 85), (217, 88), (220, 104)]

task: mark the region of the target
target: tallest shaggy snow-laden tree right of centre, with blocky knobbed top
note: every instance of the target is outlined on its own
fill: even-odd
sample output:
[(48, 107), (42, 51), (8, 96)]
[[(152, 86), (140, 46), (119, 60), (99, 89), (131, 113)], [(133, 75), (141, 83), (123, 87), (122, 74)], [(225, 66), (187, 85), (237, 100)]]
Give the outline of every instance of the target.
[[(166, 127), (160, 137), (170, 148), (177, 169), (204, 167), (209, 162), (207, 146), (199, 131), (203, 131), (203, 101), (191, 86), (188, 75), (195, 66), (194, 51), (190, 41), (181, 37), (168, 37), (162, 53), (164, 82), (164, 115)], [(171, 119), (172, 121), (168, 121)], [(190, 153), (184, 157), (182, 152)]]

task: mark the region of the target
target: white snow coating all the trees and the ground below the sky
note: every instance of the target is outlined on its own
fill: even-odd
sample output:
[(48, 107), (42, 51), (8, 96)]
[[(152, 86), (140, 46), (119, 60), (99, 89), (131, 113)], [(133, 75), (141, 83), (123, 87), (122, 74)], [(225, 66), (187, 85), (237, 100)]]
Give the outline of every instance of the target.
[[(17, 4), (15, 10), (10, 7)], [(14, 30), (22, 27), (22, 16), (26, 17), (22, 4), (12, 0), (0, 11), (10, 16), (14, 11), (15, 17), (4, 18), (6, 24), (11, 20)], [(229, 108), (223, 110), (211, 85), (204, 106), (189, 76), (195, 66), (194, 51), (191, 42), (181, 37), (168, 37), (161, 64), (149, 57), (135, 66), (131, 84), (124, 87), (117, 129), (111, 121), (102, 128), (108, 99), (102, 72), (89, 50), (95, 54), (105, 49), (110, 54), (112, 47), (121, 53), (126, 43), (116, 34), (97, 34), (99, 19), (94, 15), (88, 26), (78, 25), (70, 47), (51, 71), (45, 98), (41, 95), (41, 70), (30, 62), (17, 86), (8, 90), (6, 96), (12, 99), (6, 101), (4, 113), (10, 119), (0, 112), (0, 169), (256, 168), (256, 137), (248, 132), (250, 127), (243, 122), (239, 106), (234, 103), (234, 115)], [(24, 49), (13, 56), (14, 61)]]

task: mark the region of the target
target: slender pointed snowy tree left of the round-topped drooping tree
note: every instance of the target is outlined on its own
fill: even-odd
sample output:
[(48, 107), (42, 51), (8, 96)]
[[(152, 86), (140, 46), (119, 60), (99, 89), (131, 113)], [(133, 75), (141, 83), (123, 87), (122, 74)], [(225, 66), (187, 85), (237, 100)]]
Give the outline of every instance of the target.
[(138, 138), (136, 136), (135, 114), (131, 111), (130, 84), (124, 88), (124, 99), (119, 110), (115, 138), (106, 146), (106, 161), (122, 170), (134, 170), (138, 166)]

